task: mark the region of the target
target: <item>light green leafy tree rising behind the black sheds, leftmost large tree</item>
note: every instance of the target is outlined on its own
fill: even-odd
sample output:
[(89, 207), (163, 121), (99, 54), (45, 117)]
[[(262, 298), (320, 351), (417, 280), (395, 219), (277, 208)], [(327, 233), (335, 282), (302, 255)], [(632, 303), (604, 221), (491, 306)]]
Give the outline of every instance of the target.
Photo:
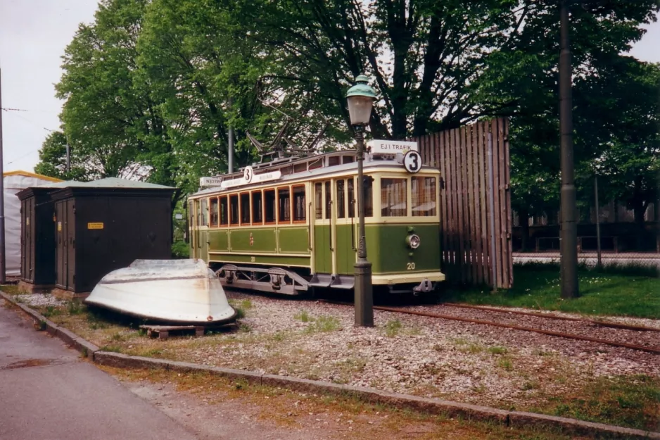
[[(103, 0), (94, 24), (80, 25), (56, 85), (71, 150), (89, 178), (127, 177), (171, 184), (163, 120), (136, 80), (136, 42), (147, 0)], [(46, 166), (43, 162), (37, 166)]]

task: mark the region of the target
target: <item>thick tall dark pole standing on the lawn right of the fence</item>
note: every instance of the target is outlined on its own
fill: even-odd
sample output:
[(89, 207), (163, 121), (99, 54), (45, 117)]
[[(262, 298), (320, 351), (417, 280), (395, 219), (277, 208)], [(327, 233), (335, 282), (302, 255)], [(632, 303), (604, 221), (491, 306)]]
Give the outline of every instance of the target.
[(576, 222), (575, 164), (573, 158), (573, 97), (569, 0), (559, 0), (561, 51), (559, 53), (559, 131), (561, 132), (561, 298), (576, 298), (578, 291), (578, 229)]

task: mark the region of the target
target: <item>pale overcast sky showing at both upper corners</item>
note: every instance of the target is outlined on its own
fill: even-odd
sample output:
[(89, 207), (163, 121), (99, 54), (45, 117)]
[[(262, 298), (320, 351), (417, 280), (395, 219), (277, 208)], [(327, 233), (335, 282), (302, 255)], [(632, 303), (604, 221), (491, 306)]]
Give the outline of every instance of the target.
[[(33, 171), (49, 130), (58, 130), (62, 101), (54, 84), (65, 47), (80, 23), (94, 20), (97, 0), (0, 0), (0, 72), (5, 171)], [(660, 62), (659, 21), (630, 54)], [(24, 111), (23, 111), (24, 110)]]

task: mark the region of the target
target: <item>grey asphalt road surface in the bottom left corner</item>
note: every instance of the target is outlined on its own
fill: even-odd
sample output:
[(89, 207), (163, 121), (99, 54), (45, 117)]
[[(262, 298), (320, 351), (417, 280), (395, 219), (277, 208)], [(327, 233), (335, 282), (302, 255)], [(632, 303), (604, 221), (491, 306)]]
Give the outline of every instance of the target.
[(2, 302), (0, 439), (197, 439)]

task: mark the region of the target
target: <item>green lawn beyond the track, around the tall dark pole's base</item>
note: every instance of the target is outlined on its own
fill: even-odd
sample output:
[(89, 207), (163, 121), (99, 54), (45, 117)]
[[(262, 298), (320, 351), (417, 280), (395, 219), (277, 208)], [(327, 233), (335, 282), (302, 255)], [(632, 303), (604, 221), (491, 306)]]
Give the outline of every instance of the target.
[[(561, 298), (555, 265), (515, 265), (514, 287), (491, 294), (487, 289), (448, 291), (447, 301), (660, 319), (660, 278), (580, 268), (580, 296)], [(633, 269), (628, 269), (635, 272)]]

